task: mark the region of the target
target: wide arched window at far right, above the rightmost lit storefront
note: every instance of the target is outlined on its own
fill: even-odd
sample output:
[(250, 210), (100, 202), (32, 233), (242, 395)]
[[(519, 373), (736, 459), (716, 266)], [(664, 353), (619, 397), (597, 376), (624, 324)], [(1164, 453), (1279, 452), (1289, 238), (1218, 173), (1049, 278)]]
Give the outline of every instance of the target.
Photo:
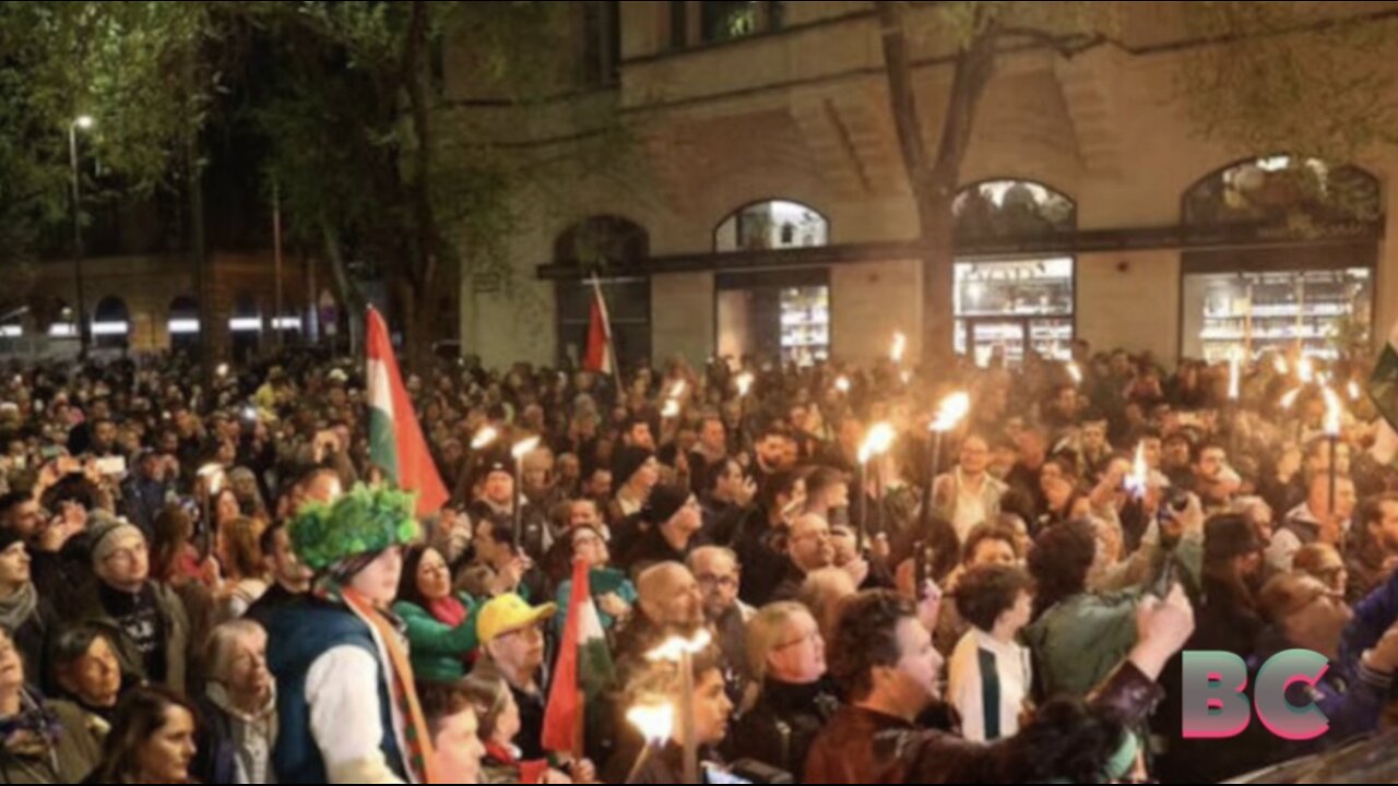
[(1334, 234), (1383, 215), (1378, 179), (1357, 166), (1271, 155), (1240, 161), (1184, 194), (1184, 224), (1248, 228), (1274, 236)]

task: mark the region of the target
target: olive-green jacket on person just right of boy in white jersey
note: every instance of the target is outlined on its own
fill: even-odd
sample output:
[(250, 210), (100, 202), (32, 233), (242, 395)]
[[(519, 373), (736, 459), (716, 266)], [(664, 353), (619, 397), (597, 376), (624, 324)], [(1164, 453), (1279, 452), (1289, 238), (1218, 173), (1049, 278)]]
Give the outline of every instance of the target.
[(1085, 698), (1111, 674), (1137, 645), (1135, 615), (1142, 594), (1078, 594), (1025, 628), (1044, 696)]

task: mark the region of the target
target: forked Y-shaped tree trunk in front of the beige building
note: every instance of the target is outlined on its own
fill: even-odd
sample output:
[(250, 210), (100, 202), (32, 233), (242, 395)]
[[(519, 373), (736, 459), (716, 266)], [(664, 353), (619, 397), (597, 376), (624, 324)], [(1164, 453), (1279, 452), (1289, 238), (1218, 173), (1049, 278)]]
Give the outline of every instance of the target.
[(917, 201), (917, 248), (923, 262), (923, 361), (945, 362), (953, 347), (955, 221), (952, 206), (960, 187), (962, 164), (970, 147), (976, 110), (995, 70), (1000, 32), (994, 21), (977, 21), (970, 42), (956, 55), (951, 95), (932, 159), (923, 136), (913, 53), (907, 41), (906, 1), (875, 3), (884, 38), (889, 105), (898, 129), (907, 182)]

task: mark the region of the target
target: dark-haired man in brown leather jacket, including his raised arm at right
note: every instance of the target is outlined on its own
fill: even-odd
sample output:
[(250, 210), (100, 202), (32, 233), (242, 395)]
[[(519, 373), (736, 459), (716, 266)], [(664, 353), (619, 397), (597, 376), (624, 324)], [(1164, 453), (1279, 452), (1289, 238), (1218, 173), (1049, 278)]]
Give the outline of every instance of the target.
[[(1125, 724), (1144, 720), (1159, 698), (1155, 680), (1188, 639), (1194, 613), (1177, 589), (1167, 601), (1146, 604), (1138, 622), (1141, 643), (1090, 702)], [(974, 783), (1009, 769), (1004, 747), (916, 726), (939, 694), (942, 657), (910, 601), (889, 592), (856, 596), (829, 649), (830, 676), (849, 703), (811, 747), (808, 783)]]

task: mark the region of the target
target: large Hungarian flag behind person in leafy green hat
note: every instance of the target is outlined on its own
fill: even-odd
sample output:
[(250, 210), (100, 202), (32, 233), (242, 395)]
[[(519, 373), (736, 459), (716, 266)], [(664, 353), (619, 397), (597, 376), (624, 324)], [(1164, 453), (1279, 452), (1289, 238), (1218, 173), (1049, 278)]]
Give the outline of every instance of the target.
[(369, 460), (389, 480), (418, 495), (418, 515), (439, 513), (450, 496), (428, 452), (412, 400), (403, 386), (398, 361), (393, 355), (389, 326), (373, 308), (368, 323)]

